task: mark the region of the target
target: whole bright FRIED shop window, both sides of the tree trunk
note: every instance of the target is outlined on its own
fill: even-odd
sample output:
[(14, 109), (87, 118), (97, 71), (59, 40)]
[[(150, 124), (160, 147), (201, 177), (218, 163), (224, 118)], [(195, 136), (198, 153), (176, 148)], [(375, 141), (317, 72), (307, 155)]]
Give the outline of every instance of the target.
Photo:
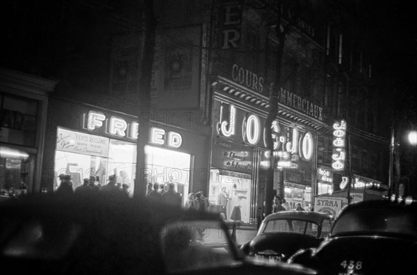
[[(173, 150), (146, 146), (147, 169), (152, 183), (175, 183), (183, 202), (188, 197), (191, 156)], [(55, 154), (56, 181), (59, 174), (70, 174), (73, 188), (83, 178), (95, 176), (97, 184), (106, 185), (108, 176), (116, 175), (117, 183), (129, 185), (133, 196), (136, 177), (136, 143), (104, 138), (58, 127)]]

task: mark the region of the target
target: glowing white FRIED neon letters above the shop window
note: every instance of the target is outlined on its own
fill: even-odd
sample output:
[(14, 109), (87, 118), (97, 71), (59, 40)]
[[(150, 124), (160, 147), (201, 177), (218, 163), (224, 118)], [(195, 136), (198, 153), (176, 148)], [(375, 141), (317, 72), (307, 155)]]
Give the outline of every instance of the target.
[[(126, 122), (126, 119), (117, 116), (106, 117), (104, 113), (89, 111), (83, 115), (83, 128), (88, 131), (101, 131), (115, 138), (127, 138), (138, 140), (139, 124), (136, 121)], [(149, 129), (149, 142), (168, 147), (179, 148), (182, 137), (174, 131), (165, 131), (163, 128), (152, 127)]]

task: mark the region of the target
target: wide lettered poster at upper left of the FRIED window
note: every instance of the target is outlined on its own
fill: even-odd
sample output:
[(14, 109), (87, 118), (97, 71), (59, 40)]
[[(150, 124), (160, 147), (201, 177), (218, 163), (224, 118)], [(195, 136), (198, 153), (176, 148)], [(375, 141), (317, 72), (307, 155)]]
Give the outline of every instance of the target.
[(108, 157), (109, 139), (58, 128), (56, 150), (81, 153), (88, 156)]

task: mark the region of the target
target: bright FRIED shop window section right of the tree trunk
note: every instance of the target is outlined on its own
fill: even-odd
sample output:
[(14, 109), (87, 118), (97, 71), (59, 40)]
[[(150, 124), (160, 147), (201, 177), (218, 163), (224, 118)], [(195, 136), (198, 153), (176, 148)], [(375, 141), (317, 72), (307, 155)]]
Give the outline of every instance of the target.
[(186, 203), (190, 185), (191, 155), (153, 146), (145, 146), (149, 179), (152, 183), (174, 183)]

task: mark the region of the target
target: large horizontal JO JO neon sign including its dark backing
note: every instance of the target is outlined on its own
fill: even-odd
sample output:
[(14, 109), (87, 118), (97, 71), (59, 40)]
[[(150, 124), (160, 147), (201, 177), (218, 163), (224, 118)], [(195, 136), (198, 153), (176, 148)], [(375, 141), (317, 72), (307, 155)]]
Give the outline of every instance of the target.
[[(266, 148), (265, 119), (252, 113), (244, 113), (232, 104), (220, 105), (220, 119), (216, 126), (218, 135), (232, 138), (236, 142)], [(284, 126), (277, 120), (272, 122), (274, 156), (279, 157), (278, 167), (296, 168), (297, 160), (310, 161), (313, 158), (314, 140), (309, 132)], [(268, 152), (265, 157), (269, 158)], [(265, 163), (265, 166), (268, 165)]]

